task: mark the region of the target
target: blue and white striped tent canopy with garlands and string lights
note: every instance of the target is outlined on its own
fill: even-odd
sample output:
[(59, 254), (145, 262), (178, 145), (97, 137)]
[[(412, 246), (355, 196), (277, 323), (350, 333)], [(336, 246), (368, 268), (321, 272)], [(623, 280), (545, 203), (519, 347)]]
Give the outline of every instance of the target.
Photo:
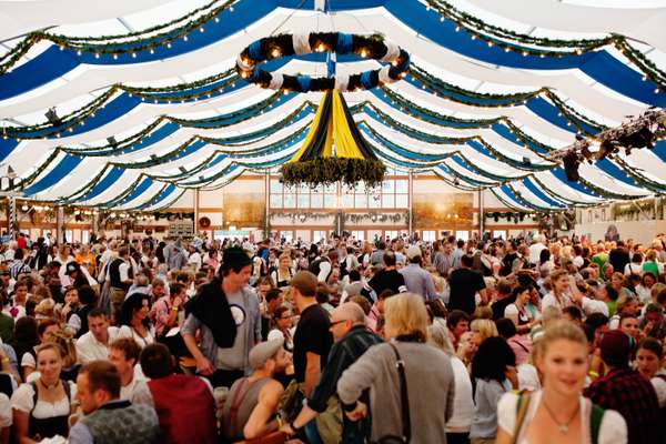
[[(262, 37), (315, 31), (381, 33), (410, 52), (403, 81), (345, 93), (390, 165), (523, 210), (666, 191), (666, 141), (583, 164), (581, 182), (547, 159), (577, 132), (664, 108), (664, 1), (28, 0), (0, 1), (0, 168), (30, 199), (150, 211), (280, 165), (321, 93), (264, 90), (233, 68)], [(331, 63), (266, 64), (322, 75)], [(335, 62), (337, 73), (379, 67)]]

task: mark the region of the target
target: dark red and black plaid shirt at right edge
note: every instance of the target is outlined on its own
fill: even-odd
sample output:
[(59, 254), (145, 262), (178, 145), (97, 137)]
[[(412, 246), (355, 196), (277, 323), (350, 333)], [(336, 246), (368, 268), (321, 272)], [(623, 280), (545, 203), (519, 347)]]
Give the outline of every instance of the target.
[(617, 411), (624, 416), (629, 444), (660, 442), (657, 394), (652, 383), (637, 371), (613, 369), (593, 382), (585, 396), (599, 407)]

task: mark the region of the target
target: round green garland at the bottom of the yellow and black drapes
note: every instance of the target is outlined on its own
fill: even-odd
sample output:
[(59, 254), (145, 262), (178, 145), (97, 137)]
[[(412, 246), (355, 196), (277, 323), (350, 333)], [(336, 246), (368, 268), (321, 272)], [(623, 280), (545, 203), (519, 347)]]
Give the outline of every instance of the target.
[(379, 160), (319, 158), (310, 161), (284, 163), (280, 167), (282, 182), (286, 186), (306, 183), (311, 188), (319, 184), (342, 183), (354, 188), (360, 181), (367, 188), (381, 186), (386, 165)]

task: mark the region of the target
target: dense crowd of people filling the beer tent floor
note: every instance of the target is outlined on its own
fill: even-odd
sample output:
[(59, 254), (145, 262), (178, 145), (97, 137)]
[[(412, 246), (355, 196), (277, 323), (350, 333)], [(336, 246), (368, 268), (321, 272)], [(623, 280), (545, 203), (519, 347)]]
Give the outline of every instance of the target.
[(663, 443), (665, 246), (20, 234), (0, 443)]

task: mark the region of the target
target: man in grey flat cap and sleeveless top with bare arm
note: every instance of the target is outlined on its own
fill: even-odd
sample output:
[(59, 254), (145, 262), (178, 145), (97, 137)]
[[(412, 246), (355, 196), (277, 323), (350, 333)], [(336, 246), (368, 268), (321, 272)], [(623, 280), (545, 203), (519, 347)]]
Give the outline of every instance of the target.
[(284, 339), (255, 345), (250, 364), (252, 374), (231, 386), (222, 413), (222, 434), (233, 442), (259, 438), (280, 427), (274, 417), (284, 389), (275, 375), (291, 364)]

